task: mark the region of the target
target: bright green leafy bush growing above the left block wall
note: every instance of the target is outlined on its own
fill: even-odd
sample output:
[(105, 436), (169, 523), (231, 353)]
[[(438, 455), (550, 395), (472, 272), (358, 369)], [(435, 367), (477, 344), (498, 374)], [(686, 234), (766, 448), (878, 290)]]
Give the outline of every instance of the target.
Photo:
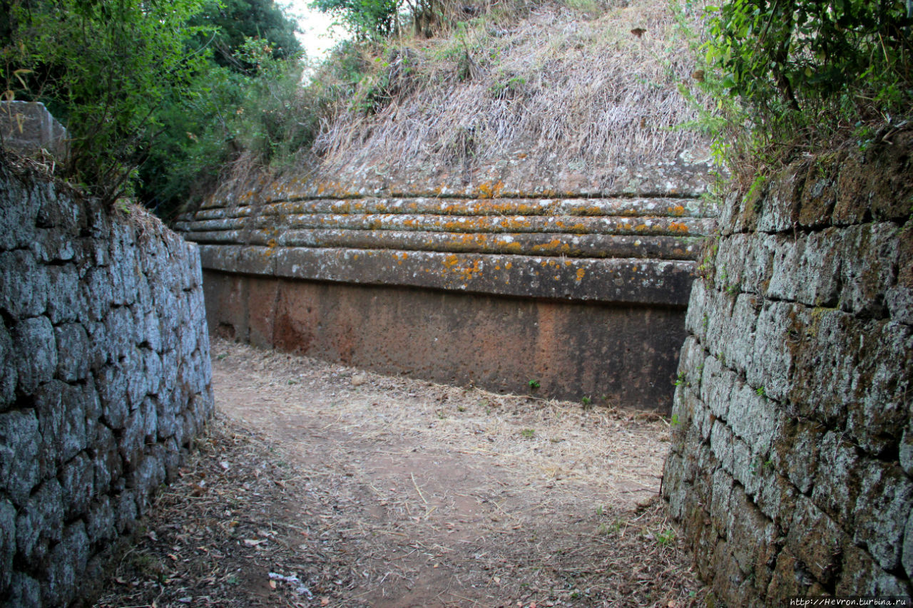
[(6, 99), (41, 100), (68, 128), (69, 177), (112, 201), (160, 123), (191, 94), (205, 56), (186, 26), (202, 0), (12, 0), (0, 28)]

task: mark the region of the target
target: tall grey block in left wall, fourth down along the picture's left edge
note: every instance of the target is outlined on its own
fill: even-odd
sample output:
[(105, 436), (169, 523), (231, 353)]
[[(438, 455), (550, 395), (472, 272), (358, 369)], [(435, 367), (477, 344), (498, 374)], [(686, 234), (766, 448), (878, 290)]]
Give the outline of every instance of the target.
[(0, 487), (23, 507), (41, 479), (41, 435), (33, 410), (0, 414)]

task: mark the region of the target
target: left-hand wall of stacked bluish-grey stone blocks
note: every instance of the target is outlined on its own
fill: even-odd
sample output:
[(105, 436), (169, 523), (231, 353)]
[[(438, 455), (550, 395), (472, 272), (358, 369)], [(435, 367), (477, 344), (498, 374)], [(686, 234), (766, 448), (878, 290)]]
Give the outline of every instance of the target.
[(0, 606), (92, 592), (213, 411), (200, 257), (0, 157)]

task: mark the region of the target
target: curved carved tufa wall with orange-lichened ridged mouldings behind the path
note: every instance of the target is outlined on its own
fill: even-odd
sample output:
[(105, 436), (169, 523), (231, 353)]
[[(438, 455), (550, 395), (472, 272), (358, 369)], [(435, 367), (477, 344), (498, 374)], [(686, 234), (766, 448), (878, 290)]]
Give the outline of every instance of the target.
[(175, 227), (200, 243), (210, 328), (229, 337), (667, 411), (694, 259), (715, 225), (670, 174), (641, 195), (267, 186)]

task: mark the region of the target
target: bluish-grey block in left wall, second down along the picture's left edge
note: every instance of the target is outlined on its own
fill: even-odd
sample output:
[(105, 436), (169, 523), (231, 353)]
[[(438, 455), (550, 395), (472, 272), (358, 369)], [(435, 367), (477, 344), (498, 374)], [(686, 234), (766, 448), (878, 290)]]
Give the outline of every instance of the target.
[(0, 310), (13, 319), (37, 317), (47, 309), (47, 268), (28, 251), (0, 253)]

